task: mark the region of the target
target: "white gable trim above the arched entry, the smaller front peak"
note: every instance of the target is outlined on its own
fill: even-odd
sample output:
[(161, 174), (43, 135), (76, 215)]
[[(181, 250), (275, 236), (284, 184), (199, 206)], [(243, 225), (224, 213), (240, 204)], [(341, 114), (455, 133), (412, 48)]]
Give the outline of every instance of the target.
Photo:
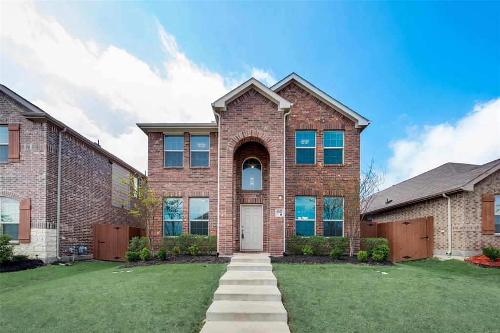
[(266, 87), (264, 84), (259, 82), (257, 79), (252, 77), (248, 81), (240, 84), (236, 88), (232, 89), (231, 91), (214, 101), (212, 103), (212, 108), (215, 111), (225, 111), (226, 105), (230, 101), (236, 99), (251, 88), (257, 90), (258, 92), (275, 102), (278, 105), (278, 109), (280, 111), (287, 110), (291, 107), (291, 105), (293, 105), (293, 103), (290, 103), (288, 100), (284, 99), (283, 97)]

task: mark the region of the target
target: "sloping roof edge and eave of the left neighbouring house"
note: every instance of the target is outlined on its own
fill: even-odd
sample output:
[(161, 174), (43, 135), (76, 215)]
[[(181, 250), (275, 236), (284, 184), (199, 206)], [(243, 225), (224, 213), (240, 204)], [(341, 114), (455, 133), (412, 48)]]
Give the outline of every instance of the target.
[(88, 138), (86, 138), (85, 136), (81, 135), (80, 133), (78, 133), (74, 129), (66, 126), (64, 123), (62, 123), (61, 121), (55, 119), (50, 114), (48, 114), (47, 112), (45, 112), (44, 110), (42, 110), (41, 108), (39, 108), (38, 106), (36, 106), (35, 104), (31, 103), (26, 98), (22, 97), (21, 95), (17, 94), (16, 92), (12, 91), (11, 89), (9, 89), (8, 87), (6, 87), (5, 85), (0, 84), (0, 90), (3, 91), (5, 94), (7, 94), (13, 100), (17, 101), (19, 104), (23, 105), (24, 107), (26, 107), (29, 110), (28, 112), (21, 112), (21, 114), (26, 119), (29, 119), (31, 121), (48, 121), (48, 122), (56, 125), (57, 127), (61, 128), (61, 129), (64, 128), (64, 127), (66, 127), (67, 131), (69, 133), (71, 133), (72, 135), (74, 135), (75, 137), (77, 137), (78, 139), (80, 139), (81, 141), (83, 141), (84, 143), (88, 144), (89, 146), (93, 147), (94, 149), (96, 149), (97, 151), (99, 151), (100, 153), (102, 153), (104, 156), (108, 157), (109, 159), (111, 159), (111, 160), (113, 160), (115, 162), (118, 162), (119, 164), (121, 164), (125, 168), (129, 169), (130, 171), (133, 171), (133, 172), (137, 173), (138, 175), (140, 175), (142, 177), (147, 177), (144, 173), (140, 172), (139, 170), (137, 170), (136, 168), (134, 168), (130, 164), (126, 163), (122, 159), (116, 157), (115, 155), (113, 155), (112, 153), (110, 153), (109, 151), (107, 151), (106, 149), (102, 148), (96, 142), (93, 142), (92, 140), (89, 140)]

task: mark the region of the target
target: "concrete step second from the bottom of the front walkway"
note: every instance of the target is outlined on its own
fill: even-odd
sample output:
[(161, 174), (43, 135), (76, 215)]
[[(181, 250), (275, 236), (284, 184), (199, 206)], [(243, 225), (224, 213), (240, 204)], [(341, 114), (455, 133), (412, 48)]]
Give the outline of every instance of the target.
[(281, 301), (214, 300), (206, 310), (206, 321), (284, 321)]

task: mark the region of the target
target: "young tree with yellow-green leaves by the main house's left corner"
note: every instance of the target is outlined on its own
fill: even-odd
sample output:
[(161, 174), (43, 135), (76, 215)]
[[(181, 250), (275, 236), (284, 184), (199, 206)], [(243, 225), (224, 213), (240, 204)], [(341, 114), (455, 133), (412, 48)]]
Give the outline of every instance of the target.
[(128, 214), (140, 221), (140, 226), (149, 239), (149, 249), (154, 255), (153, 229), (156, 216), (163, 207), (163, 198), (149, 187), (146, 179), (137, 174), (120, 178), (118, 182), (121, 186), (113, 189), (113, 198), (127, 208)]

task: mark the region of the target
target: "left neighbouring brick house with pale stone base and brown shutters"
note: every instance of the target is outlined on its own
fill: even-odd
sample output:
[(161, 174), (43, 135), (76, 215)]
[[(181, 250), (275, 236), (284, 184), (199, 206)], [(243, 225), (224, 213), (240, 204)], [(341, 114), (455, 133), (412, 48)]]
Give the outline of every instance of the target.
[(139, 226), (113, 200), (119, 194), (116, 179), (126, 174), (145, 177), (97, 143), (0, 85), (1, 231), (12, 236), (15, 253), (50, 262), (57, 256), (67, 259), (72, 255), (69, 247), (81, 246), (77, 258), (91, 258), (94, 223)]

